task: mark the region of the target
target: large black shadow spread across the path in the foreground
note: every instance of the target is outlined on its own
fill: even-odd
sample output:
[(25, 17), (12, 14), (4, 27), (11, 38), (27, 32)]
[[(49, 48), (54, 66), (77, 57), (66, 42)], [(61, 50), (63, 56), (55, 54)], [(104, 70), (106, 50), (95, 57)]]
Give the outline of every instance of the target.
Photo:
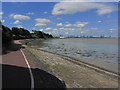
[[(66, 90), (65, 84), (55, 76), (37, 68), (31, 68), (31, 70), (35, 88), (62, 88), (62, 90)], [(30, 88), (31, 79), (28, 68), (3, 64), (2, 87), (3, 89)]]

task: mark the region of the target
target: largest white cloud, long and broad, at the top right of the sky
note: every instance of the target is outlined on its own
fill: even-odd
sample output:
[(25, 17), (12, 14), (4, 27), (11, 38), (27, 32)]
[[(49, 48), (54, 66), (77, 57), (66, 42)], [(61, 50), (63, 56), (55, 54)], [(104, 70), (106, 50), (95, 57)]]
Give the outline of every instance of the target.
[(74, 14), (88, 10), (97, 10), (98, 15), (108, 14), (116, 10), (116, 7), (98, 2), (60, 2), (57, 3), (52, 11), (53, 15)]

